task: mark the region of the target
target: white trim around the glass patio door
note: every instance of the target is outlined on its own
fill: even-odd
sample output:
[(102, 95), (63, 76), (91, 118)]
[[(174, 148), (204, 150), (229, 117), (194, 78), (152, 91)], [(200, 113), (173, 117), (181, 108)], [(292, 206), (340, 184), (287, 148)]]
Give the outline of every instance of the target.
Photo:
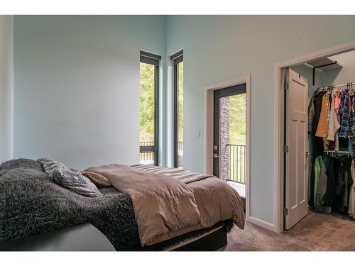
[(204, 87), (204, 172), (213, 174), (213, 92), (246, 84), (246, 220), (250, 215), (250, 74), (223, 80)]

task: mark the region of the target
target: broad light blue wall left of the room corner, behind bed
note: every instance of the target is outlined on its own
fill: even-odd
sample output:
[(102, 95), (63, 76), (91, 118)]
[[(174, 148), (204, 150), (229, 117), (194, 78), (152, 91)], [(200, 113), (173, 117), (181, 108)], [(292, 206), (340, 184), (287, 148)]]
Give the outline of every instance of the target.
[(138, 163), (139, 50), (163, 84), (165, 17), (15, 16), (14, 35), (14, 157)]

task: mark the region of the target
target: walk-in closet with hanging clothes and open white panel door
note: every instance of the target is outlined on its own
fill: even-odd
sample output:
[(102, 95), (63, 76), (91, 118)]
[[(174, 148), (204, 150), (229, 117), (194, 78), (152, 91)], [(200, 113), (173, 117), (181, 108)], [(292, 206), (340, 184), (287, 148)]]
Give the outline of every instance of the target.
[(355, 51), (290, 67), (284, 87), (285, 229), (310, 211), (355, 226)]

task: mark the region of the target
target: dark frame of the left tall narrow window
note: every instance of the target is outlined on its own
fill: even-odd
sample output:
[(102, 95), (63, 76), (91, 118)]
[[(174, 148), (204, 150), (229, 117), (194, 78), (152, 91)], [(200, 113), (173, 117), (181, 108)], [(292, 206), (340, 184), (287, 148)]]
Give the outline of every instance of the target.
[(160, 55), (140, 51), (139, 62), (154, 65), (154, 145), (139, 145), (139, 153), (154, 153), (154, 165), (159, 165), (159, 63)]

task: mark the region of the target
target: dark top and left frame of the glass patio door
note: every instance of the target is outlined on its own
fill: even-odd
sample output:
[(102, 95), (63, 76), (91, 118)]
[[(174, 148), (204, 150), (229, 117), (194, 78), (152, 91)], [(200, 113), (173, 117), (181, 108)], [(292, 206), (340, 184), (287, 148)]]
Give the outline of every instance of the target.
[(217, 156), (213, 160), (213, 174), (217, 177), (219, 177), (219, 98), (244, 93), (246, 93), (246, 83), (214, 91), (213, 153)]

